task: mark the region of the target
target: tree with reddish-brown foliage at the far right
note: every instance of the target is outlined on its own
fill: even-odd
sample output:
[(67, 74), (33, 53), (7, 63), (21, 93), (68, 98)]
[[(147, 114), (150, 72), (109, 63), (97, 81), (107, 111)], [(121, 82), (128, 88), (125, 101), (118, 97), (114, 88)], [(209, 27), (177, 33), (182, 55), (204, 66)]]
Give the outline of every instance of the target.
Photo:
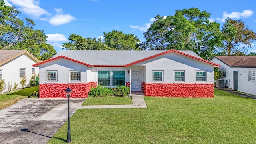
[(240, 44), (245, 44), (248, 47), (252, 46), (252, 42), (256, 40), (256, 34), (253, 30), (249, 30), (242, 20), (232, 20), (227, 18), (226, 22), (222, 26), (223, 33), (223, 43), (224, 50), (228, 56), (233, 53), (248, 50), (246, 46)]

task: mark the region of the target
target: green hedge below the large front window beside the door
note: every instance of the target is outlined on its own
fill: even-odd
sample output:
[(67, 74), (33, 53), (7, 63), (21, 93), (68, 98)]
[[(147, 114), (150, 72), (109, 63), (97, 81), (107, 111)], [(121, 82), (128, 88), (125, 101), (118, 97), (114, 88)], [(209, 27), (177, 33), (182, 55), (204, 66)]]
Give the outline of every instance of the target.
[(97, 86), (91, 88), (88, 97), (103, 97), (103, 96), (128, 96), (130, 89), (127, 86), (117, 86), (116, 88), (108, 88)]

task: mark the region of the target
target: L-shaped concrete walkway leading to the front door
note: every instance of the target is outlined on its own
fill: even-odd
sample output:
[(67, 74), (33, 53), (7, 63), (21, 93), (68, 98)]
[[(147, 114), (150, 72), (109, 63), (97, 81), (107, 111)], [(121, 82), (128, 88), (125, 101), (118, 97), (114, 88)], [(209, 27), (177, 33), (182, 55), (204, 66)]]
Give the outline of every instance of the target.
[(80, 106), (78, 109), (83, 108), (147, 108), (147, 105), (143, 98), (142, 92), (132, 93), (132, 104), (126, 105), (96, 105), (96, 106)]

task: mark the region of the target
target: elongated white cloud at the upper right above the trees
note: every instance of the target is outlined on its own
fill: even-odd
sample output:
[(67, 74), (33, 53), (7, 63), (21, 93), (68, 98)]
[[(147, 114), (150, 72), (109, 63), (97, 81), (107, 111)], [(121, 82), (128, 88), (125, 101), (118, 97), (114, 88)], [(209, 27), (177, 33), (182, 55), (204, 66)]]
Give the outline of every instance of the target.
[(223, 12), (222, 13), (222, 18), (217, 18), (217, 20), (220, 20), (220, 21), (222, 21), (222, 22), (225, 22), (225, 20), (226, 20), (226, 18), (241, 18), (241, 17), (243, 17), (243, 18), (247, 18), (247, 17), (249, 17), (249, 16), (251, 16), (253, 14), (253, 11), (252, 10), (243, 10), (243, 12), (242, 13), (240, 13), (240, 12), (231, 12), (230, 14), (228, 14), (228, 12)]

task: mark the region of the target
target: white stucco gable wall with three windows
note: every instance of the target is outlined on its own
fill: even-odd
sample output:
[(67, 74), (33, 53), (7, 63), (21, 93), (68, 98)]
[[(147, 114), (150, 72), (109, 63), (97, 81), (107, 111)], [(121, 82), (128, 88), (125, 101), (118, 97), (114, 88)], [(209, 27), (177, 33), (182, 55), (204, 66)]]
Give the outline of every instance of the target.
[[(152, 71), (162, 70), (163, 71), (163, 82), (162, 83), (181, 83), (174, 82), (174, 71), (185, 71), (185, 82), (186, 84), (194, 83), (207, 83), (213, 84), (214, 81), (214, 66), (205, 62), (200, 62), (193, 58), (183, 56), (176, 53), (168, 53), (144, 62), (140, 62), (136, 65), (142, 65), (145, 67), (145, 82), (152, 82), (153, 73)], [(196, 71), (206, 71), (206, 82), (196, 82)]]

